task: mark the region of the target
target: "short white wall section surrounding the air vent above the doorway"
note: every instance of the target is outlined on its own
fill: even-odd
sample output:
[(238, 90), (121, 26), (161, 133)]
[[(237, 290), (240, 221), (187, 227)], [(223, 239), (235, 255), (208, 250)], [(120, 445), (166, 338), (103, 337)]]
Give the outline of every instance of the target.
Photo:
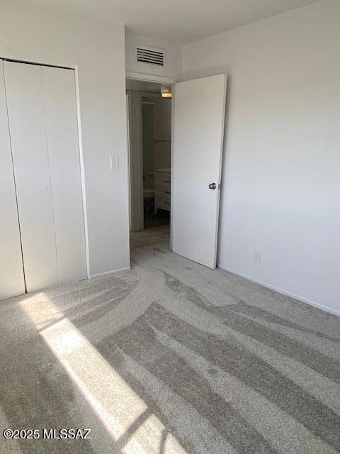
[[(135, 62), (136, 45), (146, 45), (152, 48), (164, 49), (166, 52), (165, 67), (153, 67)], [(182, 49), (181, 45), (174, 43), (164, 43), (161, 40), (146, 38), (132, 33), (125, 34), (125, 65), (127, 74), (142, 73), (151, 76), (165, 77), (179, 80), (182, 70)]]

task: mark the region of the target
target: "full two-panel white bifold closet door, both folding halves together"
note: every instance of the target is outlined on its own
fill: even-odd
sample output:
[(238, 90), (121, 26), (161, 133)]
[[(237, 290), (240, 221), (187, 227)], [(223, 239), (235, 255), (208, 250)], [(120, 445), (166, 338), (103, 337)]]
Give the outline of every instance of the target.
[(74, 71), (4, 62), (28, 292), (86, 279)]

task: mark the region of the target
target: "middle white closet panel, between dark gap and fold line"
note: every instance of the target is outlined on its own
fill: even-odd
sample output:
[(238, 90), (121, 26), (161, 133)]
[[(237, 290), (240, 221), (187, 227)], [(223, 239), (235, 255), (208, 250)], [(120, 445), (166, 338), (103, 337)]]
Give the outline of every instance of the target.
[(41, 67), (4, 62), (8, 118), (28, 292), (57, 284)]

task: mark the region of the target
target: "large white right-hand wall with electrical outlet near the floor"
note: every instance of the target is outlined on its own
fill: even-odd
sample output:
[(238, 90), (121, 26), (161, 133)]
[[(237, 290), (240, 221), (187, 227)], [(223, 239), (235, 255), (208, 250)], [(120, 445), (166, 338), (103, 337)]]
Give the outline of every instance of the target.
[(183, 48), (185, 79), (229, 74), (220, 266), (338, 313), (339, 19), (324, 0)]

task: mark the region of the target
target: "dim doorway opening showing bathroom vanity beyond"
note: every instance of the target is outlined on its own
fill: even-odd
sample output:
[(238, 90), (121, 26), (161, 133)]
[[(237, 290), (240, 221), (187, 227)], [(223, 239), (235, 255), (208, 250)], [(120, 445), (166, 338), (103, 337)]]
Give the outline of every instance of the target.
[(171, 98), (162, 84), (126, 80), (130, 160), (130, 244), (169, 244)]

